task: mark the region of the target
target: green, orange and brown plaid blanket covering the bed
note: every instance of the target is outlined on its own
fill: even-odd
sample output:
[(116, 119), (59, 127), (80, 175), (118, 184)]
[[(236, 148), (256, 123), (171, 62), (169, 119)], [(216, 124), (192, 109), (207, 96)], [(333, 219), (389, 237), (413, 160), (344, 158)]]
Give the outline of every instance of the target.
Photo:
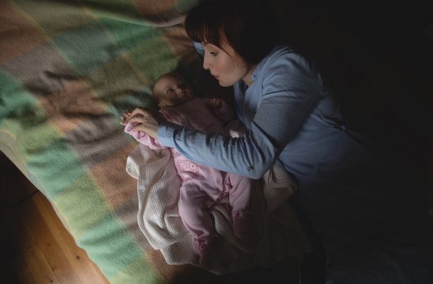
[(182, 28), (196, 3), (0, 1), (0, 150), (112, 283), (170, 281), (182, 269), (145, 253), (125, 172), (136, 142), (118, 122), (127, 108), (154, 106), (162, 73), (206, 85)]

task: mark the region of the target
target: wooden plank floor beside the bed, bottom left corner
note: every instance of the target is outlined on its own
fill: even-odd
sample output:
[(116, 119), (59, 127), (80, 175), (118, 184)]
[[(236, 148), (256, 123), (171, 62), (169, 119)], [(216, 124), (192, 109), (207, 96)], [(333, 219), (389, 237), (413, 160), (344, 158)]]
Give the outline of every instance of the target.
[(0, 152), (1, 283), (109, 283), (48, 200)]

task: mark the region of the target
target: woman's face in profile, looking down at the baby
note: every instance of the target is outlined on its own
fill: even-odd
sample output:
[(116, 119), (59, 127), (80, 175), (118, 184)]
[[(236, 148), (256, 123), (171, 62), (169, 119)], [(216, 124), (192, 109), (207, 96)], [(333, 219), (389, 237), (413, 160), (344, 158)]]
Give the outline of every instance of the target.
[(204, 48), (203, 68), (211, 71), (222, 87), (234, 85), (244, 80), (247, 85), (251, 82), (251, 70), (236, 51), (228, 44), (218, 46), (202, 42)]

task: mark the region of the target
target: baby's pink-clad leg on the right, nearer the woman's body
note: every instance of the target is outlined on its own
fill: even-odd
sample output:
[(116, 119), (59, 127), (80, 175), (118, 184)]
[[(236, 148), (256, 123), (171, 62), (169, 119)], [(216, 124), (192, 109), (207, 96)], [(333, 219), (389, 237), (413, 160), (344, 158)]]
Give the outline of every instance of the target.
[(245, 242), (255, 243), (258, 240), (254, 227), (253, 214), (250, 207), (250, 198), (253, 180), (240, 175), (227, 173), (226, 186), (229, 190), (229, 202), (231, 205), (231, 220), (233, 221), (233, 233)]

